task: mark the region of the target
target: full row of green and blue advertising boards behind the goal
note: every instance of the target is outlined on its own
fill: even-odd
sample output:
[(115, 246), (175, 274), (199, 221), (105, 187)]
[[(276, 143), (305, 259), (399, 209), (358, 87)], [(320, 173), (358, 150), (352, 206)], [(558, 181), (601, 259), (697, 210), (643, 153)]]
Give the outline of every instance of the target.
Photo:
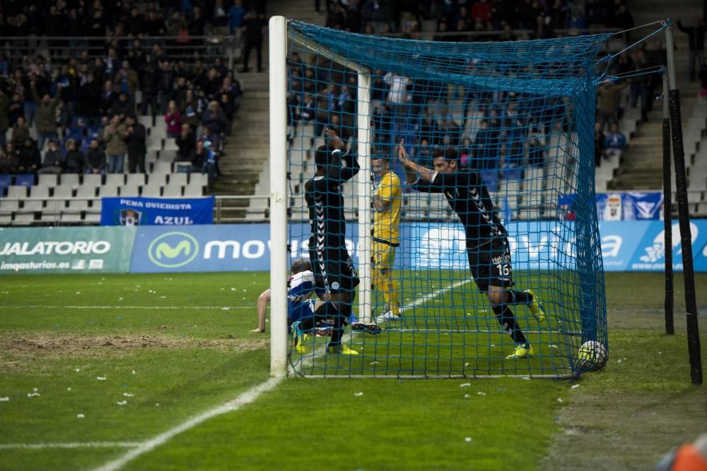
[[(573, 268), (571, 221), (507, 225), (514, 270)], [(347, 234), (357, 234), (349, 224)], [(674, 270), (682, 270), (679, 227), (673, 229)], [(694, 267), (707, 271), (707, 220), (691, 222)], [(290, 227), (292, 258), (308, 257), (309, 226)], [(522, 235), (517, 235), (522, 234)], [(604, 270), (660, 271), (662, 221), (600, 222)], [(460, 225), (416, 222), (401, 227), (395, 266), (467, 268)], [(347, 238), (354, 254), (356, 237)], [(266, 271), (269, 225), (0, 228), (0, 274)]]

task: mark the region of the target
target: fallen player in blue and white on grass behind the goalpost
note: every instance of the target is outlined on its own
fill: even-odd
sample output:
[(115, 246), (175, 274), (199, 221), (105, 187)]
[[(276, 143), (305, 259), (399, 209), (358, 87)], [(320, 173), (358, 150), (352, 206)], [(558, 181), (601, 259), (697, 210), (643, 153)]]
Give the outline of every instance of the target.
[[(295, 321), (301, 321), (307, 316), (313, 316), (314, 312), (325, 304), (328, 300), (326, 292), (317, 292), (315, 289), (314, 273), (312, 265), (304, 259), (296, 260), (290, 267), (290, 278), (287, 279), (287, 325), (291, 326)], [(317, 292), (321, 300), (312, 299), (312, 294)], [(257, 301), (258, 308), (258, 328), (251, 330), (252, 333), (265, 333), (265, 314), (267, 304), (270, 302), (270, 290), (267, 289), (260, 294)], [(358, 322), (356, 316), (351, 313), (349, 323), (353, 330), (362, 330), (367, 333), (380, 333), (380, 327), (375, 324)], [(317, 335), (332, 335), (332, 326), (320, 323), (312, 329)]]

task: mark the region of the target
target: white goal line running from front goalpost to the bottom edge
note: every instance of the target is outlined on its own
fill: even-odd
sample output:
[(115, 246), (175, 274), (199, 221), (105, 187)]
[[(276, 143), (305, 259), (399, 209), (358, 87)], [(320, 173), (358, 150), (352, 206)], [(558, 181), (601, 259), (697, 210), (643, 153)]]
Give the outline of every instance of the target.
[(282, 378), (270, 378), (264, 383), (260, 383), (259, 385), (254, 386), (249, 390), (245, 391), (245, 393), (239, 395), (238, 398), (235, 398), (234, 400), (231, 400), (226, 404), (214, 407), (213, 409), (209, 409), (206, 412), (202, 412), (196, 417), (192, 417), (191, 419), (187, 420), (187, 422), (183, 422), (182, 424), (177, 425), (177, 427), (174, 427), (173, 429), (169, 429), (168, 431), (165, 431), (164, 433), (159, 434), (158, 436), (155, 436), (152, 439), (149, 439), (148, 441), (140, 443), (139, 446), (137, 446), (131, 451), (128, 451), (116, 460), (109, 461), (108, 463), (105, 463), (105, 465), (95, 468), (95, 471), (119, 470), (121, 467), (127, 465), (127, 463), (134, 460), (139, 455), (147, 453), (148, 451), (152, 451), (154, 448), (163, 445), (164, 443), (172, 439), (174, 436), (181, 434), (182, 431), (187, 431), (192, 427), (196, 427), (197, 425), (201, 424), (201, 422), (211, 419), (212, 417), (216, 417), (217, 415), (221, 414), (226, 414), (226, 412), (231, 412), (233, 410), (238, 410), (243, 405), (252, 403), (255, 399), (258, 398), (259, 395), (261, 395), (262, 393), (266, 393), (267, 391), (277, 386), (280, 381), (282, 381)]

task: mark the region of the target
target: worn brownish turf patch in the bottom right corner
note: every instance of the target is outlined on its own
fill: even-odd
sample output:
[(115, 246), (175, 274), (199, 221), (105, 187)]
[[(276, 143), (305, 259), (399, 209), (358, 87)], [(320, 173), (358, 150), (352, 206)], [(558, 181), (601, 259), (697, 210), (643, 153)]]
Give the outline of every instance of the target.
[(563, 432), (540, 469), (652, 470), (670, 448), (704, 431), (707, 398), (694, 387), (667, 395), (578, 393), (556, 422)]

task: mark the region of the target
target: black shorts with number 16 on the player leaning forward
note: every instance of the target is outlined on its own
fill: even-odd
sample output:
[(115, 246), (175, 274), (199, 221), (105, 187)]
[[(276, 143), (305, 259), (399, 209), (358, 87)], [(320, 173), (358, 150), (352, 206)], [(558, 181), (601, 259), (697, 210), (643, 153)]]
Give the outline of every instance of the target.
[(488, 291), (489, 286), (513, 286), (513, 268), (510, 263), (508, 239), (491, 239), (488, 242), (467, 242), (469, 270), (479, 290)]

